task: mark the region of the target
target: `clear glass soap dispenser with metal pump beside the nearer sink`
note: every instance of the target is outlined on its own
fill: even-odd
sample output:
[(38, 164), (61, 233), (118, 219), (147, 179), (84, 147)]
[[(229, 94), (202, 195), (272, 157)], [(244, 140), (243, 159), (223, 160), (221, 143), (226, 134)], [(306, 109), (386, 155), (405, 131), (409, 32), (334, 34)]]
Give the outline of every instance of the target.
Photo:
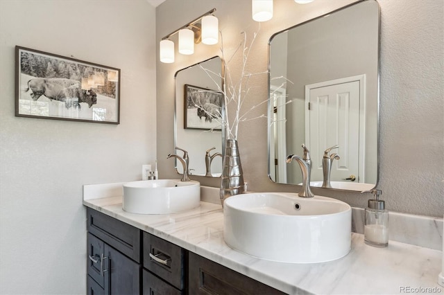
[(375, 247), (388, 245), (388, 211), (385, 202), (379, 199), (381, 190), (370, 190), (373, 199), (368, 200), (365, 210), (364, 242)]

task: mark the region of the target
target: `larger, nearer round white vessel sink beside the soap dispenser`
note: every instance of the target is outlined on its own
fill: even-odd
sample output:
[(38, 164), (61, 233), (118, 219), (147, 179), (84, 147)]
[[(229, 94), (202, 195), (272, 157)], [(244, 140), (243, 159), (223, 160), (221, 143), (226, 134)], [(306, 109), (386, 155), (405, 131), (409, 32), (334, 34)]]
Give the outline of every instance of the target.
[(250, 256), (291, 263), (327, 262), (348, 254), (352, 209), (336, 199), (250, 193), (225, 199), (224, 240)]

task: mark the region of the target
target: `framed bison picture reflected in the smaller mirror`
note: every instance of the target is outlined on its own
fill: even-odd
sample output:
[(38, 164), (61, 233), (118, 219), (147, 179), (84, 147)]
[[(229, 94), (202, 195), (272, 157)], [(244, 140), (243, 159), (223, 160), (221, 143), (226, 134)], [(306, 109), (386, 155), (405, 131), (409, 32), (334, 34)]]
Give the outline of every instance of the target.
[(185, 84), (185, 129), (221, 130), (223, 93)]

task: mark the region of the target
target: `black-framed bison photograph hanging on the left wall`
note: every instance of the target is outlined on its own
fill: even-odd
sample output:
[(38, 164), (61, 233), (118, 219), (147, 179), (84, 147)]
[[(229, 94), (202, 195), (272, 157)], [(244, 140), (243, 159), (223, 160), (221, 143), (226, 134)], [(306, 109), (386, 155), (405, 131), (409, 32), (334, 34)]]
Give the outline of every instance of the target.
[(119, 124), (119, 69), (21, 46), (15, 64), (15, 116)]

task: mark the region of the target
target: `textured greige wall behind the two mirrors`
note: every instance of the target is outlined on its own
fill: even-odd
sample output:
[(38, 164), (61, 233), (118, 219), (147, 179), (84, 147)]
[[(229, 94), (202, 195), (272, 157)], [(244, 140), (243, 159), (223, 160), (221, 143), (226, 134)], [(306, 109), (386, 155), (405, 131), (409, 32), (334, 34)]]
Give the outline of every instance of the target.
[[(267, 69), (267, 44), (273, 33), (312, 17), (323, 15), (354, 1), (314, 1), (301, 6), (294, 1), (275, 1), (271, 21), (260, 24), (250, 55), (249, 71)], [(250, 17), (250, 1), (167, 0), (156, 10), (156, 39), (183, 26), (212, 8), (223, 33), (225, 54), (240, 41), (241, 31), (250, 39), (259, 24)], [(441, 0), (379, 1), (382, 14), (380, 73), (379, 185), (391, 211), (442, 217), (444, 211), (444, 71), (443, 6)], [(157, 60), (157, 155), (161, 177), (177, 178), (167, 152), (173, 150), (174, 80), (179, 69), (213, 55), (218, 46), (196, 46), (191, 56), (176, 55), (176, 63)], [(239, 75), (239, 66), (232, 67)], [(249, 105), (267, 98), (267, 76), (259, 75), (252, 87)], [(266, 114), (266, 105), (253, 114)], [(244, 179), (250, 190), (288, 191), (298, 186), (273, 184), (267, 177), (266, 120), (241, 125), (239, 132)], [(216, 179), (194, 177), (203, 185), (219, 186)], [(335, 197), (352, 206), (366, 206), (369, 195), (314, 189), (318, 195)]]

